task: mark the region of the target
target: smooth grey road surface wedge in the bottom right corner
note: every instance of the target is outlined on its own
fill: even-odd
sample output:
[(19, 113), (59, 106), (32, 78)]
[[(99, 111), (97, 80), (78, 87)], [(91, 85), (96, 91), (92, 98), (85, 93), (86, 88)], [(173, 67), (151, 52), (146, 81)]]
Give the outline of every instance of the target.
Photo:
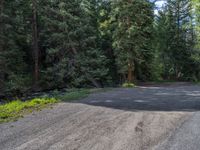
[(175, 130), (157, 150), (198, 150), (200, 148), (200, 113), (195, 113)]

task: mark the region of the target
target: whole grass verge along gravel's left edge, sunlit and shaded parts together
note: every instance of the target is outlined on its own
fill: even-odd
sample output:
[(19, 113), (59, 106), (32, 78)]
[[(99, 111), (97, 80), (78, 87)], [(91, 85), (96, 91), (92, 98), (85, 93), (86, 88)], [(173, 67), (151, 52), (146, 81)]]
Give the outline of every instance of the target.
[(55, 91), (51, 97), (35, 98), (25, 102), (20, 100), (12, 101), (0, 105), (0, 123), (15, 121), (26, 114), (41, 110), (60, 101), (79, 100), (88, 97), (91, 93), (105, 92), (107, 90), (108, 89), (71, 89), (64, 94)]

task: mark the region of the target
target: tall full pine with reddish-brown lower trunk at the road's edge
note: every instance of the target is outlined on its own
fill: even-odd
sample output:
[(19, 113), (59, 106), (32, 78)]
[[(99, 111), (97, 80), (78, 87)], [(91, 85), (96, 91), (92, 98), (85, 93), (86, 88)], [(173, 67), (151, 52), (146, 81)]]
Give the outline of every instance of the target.
[(113, 2), (113, 10), (118, 72), (133, 82), (135, 71), (151, 53), (153, 7), (147, 0), (118, 0)]

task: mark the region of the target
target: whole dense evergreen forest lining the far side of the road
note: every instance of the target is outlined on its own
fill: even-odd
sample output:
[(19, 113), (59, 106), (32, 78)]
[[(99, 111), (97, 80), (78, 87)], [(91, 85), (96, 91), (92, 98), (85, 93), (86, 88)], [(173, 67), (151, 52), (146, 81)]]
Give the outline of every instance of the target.
[(200, 1), (0, 0), (0, 93), (200, 81)]

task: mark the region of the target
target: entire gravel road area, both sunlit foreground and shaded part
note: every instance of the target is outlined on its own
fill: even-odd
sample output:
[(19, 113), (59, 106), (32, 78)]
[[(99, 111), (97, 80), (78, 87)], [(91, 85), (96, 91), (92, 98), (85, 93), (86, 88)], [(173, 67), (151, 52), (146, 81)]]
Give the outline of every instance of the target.
[(58, 103), (0, 124), (0, 149), (191, 150), (184, 145), (199, 146), (199, 91), (199, 85), (144, 85)]

